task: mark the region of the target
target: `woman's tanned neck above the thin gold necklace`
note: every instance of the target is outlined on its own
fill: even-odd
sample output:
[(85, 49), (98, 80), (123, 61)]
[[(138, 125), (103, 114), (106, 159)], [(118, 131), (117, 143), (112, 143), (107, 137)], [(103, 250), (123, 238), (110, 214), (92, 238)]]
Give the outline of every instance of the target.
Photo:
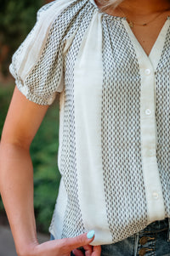
[(124, 0), (120, 7), (129, 14), (149, 15), (170, 9), (169, 0)]

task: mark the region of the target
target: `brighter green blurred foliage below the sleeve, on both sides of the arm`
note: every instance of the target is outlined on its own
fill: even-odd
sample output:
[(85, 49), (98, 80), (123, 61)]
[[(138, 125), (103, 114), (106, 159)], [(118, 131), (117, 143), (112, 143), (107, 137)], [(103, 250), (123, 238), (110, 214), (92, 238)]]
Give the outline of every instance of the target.
[[(14, 84), (0, 84), (0, 135), (8, 111)], [(58, 194), (60, 174), (57, 168), (57, 150), (59, 145), (59, 104), (54, 102), (44, 117), (36, 137), (31, 145), (31, 158), (34, 166), (34, 206), (37, 228), (48, 232), (48, 226), (54, 211)], [(0, 211), (3, 203), (0, 200)]]

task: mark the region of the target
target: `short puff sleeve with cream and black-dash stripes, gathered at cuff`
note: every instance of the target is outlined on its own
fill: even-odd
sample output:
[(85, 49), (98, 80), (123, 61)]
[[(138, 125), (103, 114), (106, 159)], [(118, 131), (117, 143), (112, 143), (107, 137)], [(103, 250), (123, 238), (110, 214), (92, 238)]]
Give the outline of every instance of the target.
[(20, 92), (39, 105), (51, 105), (64, 87), (63, 38), (59, 15), (71, 1), (48, 3), (37, 12), (37, 23), (14, 53), (9, 71)]

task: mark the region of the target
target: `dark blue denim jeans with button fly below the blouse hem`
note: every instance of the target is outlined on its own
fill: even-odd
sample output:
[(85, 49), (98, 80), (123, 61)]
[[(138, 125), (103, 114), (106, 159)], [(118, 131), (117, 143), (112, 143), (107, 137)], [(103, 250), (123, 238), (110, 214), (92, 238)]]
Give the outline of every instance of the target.
[(133, 236), (101, 247), (101, 256), (170, 256), (170, 219), (152, 222)]

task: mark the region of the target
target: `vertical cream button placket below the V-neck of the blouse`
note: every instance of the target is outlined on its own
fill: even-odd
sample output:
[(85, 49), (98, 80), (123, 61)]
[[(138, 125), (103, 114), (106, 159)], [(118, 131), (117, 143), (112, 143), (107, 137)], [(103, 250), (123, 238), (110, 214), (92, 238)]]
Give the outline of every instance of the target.
[[(164, 218), (165, 208), (156, 161), (155, 72), (149, 63), (143, 69), (141, 77), (141, 152), (148, 219), (152, 222), (156, 213), (157, 218)], [(159, 195), (153, 194), (157, 191), (159, 191)]]

